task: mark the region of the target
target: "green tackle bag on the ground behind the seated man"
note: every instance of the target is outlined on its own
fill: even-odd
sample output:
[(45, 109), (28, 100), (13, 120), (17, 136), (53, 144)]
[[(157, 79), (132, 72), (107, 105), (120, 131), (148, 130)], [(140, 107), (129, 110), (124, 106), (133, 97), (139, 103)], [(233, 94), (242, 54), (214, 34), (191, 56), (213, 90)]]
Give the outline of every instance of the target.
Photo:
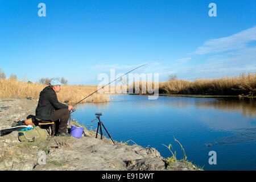
[(20, 142), (40, 142), (47, 138), (47, 131), (40, 129), (39, 126), (33, 127), (31, 130), (20, 131), (18, 133)]

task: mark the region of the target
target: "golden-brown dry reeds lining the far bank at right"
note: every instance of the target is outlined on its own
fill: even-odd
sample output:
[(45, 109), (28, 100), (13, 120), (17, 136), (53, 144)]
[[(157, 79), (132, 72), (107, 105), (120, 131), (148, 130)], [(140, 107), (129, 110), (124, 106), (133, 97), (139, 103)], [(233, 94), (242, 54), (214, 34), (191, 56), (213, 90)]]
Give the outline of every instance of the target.
[[(154, 88), (155, 83), (134, 82), (133, 93), (148, 94), (148, 84)], [(137, 85), (137, 86), (136, 86)], [(139, 89), (138, 89), (139, 88)], [(144, 90), (144, 92), (143, 92)], [(247, 96), (253, 97), (256, 94), (256, 73), (245, 73), (234, 77), (221, 77), (213, 79), (188, 80), (168, 80), (159, 82), (159, 93), (174, 95), (201, 95), (202, 96)]]

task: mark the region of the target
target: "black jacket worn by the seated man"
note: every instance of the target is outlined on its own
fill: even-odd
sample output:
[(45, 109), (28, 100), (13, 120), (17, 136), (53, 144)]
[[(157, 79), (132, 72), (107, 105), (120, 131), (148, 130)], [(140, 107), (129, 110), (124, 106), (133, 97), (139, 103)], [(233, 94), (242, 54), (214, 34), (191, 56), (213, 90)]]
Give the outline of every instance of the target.
[(35, 111), (36, 118), (52, 121), (53, 112), (58, 109), (68, 109), (68, 106), (61, 104), (57, 100), (55, 91), (50, 86), (47, 86), (40, 92), (38, 107), (36, 107)]

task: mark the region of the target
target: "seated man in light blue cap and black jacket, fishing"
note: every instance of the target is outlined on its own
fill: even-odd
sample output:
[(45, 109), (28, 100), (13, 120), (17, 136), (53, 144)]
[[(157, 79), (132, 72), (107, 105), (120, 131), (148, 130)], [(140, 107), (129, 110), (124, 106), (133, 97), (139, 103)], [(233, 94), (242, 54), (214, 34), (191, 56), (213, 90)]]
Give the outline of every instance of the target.
[(67, 133), (69, 110), (73, 109), (71, 105), (61, 104), (57, 100), (57, 92), (60, 92), (60, 86), (64, 85), (57, 79), (51, 81), (49, 86), (40, 92), (38, 107), (36, 107), (36, 118), (42, 119), (42, 122), (55, 122), (56, 136), (71, 137)]

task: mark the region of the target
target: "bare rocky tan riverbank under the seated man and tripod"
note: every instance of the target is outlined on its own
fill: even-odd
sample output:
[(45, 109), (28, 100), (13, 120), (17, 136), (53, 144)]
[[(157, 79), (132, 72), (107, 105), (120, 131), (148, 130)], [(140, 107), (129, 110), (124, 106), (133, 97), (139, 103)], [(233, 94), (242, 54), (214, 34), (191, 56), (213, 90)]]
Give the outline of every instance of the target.
[[(30, 99), (0, 98), (0, 129), (34, 115), (37, 104)], [(95, 138), (94, 131), (84, 131), (81, 138), (48, 136), (44, 142), (19, 142), (18, 131), (0, 137), (0, 170), (197, 170), (187, 161), (168, 165), (155, 148), (117, 141), (114, 145), (108, 138)]]

